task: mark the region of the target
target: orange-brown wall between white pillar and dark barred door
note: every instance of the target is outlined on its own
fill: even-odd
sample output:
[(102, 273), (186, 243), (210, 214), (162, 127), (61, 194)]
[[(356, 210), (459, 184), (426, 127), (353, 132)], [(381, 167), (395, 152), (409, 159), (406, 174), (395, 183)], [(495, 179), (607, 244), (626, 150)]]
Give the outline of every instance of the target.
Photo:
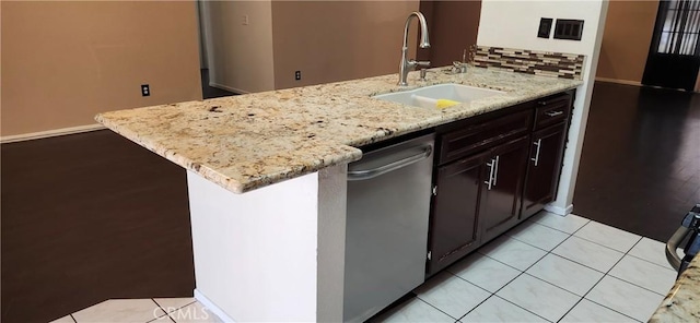
[(610, 1), (596, 76), (641, 82), (658, 1)]

